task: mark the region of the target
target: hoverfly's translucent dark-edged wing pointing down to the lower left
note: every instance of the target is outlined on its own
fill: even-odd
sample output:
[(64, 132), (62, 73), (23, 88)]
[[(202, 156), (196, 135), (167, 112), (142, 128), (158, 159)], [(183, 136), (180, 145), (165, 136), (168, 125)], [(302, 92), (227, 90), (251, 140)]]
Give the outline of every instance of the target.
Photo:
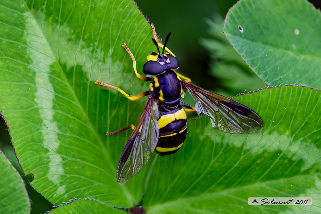
[(131, 133), (117, 167), (117, 182), (124, 184), (136, 175), (147, 163), (154, 151), (158, 137), (158, 106), (149, 96), (143, 113)]

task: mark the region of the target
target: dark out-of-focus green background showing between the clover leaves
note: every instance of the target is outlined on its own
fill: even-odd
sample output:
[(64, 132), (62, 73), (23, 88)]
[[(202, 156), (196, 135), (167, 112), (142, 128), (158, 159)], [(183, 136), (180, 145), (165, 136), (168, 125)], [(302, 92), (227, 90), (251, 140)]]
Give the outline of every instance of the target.
[[(252, 72), (222, 32), (225, 15), (236, 0), (200, 0), (188, 4), (183, 0), (136, 2), (149, 22), (155, 25), (160, 38), (172, 33), (168, 46), (178, 58), (180, 73), (190, 77), (196, 85), (227, 97), (267, 86)], [(316, 8), (321, 7), (319, 0), (310, 2)], [(43, 214), (51, 210), (53, 205), (30, 186), (32, 175), (23, 175), (2, 117), (0, 149), (26, 183), (31, 213)]]

